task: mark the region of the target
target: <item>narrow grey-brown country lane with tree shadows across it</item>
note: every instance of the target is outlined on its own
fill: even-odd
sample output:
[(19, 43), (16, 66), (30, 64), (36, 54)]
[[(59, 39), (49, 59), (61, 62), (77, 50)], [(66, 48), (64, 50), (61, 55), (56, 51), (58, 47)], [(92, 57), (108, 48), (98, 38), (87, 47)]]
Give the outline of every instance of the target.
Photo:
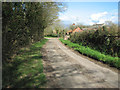
[(58, 39), (43, 47), (46, 87), (118, 88), (118, 73), (77, 55)]

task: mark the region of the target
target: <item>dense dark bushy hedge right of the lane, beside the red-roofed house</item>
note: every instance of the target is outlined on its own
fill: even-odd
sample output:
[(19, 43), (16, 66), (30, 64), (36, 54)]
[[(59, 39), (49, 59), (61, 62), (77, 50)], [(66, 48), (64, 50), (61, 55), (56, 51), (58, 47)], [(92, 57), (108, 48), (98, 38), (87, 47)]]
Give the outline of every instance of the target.
[(120, 57), (120, 39), (116, 32), (103, 28), (89, 30), (71, 35), (70, 41), (89, 46), (104, 54)]

